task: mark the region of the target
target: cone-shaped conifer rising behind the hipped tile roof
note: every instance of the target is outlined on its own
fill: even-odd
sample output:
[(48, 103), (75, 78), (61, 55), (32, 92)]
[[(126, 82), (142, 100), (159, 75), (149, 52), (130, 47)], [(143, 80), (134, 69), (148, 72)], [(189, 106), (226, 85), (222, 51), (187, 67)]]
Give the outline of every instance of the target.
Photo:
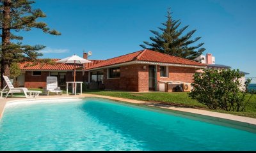
[(164, 27), (158, 27), (161, 32), (150, 30), (151, 33), (155, 34), (154, 37), (150, 37), (150, 40), (153, 42), (149, 43), (148, 41), (143, 41), (143, 43), (149, 47), (145, 45), (140, 45), (140, 47), (192, 60), (202, 55), (205, 48), (200, 47), (202, 47), (204, 43), (199, 43), (195, 47), (191, 46), (192, 43), (195, 43), (201, 38), (196, 37), (194, 40), (191, 40), (196, 30), (182, 34), (188, 28), (188, 25), (178, 29), (181, 22), (180, 20), (172, 19), (170, 8), (167, 11), (166, 18), (166, 22), (162, 23)]

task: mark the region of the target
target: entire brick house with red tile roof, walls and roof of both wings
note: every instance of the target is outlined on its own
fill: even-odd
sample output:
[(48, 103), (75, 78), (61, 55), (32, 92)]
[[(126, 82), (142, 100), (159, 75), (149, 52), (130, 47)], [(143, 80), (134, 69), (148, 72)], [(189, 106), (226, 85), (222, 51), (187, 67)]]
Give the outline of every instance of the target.
[[(88, 55), (83, 54), (84, 59), (87, 59)], [(58, 59), (52, 59), (53, 61), (58, 61)], [(115, 58), (107, 60), (90, 60), (90, 63), (87, 64), (77, 64), (76, 69), (76, 81), (77, 82), (88, 82), (90, 80), (90, 71), (91, 69), (103, 69), (103, 84), (102, 89), (111, 89), (111, 90), (121, 90), (121, 91), (139, 91), (147, 92), (148, 91), (148, 63), (152, 64), (175, 64), (178, 66), (189, 66), (189, 67), (178, 67), (178, 66), (168, 66), (168, 75), (167, 77), (160, 77), (160, 66), (156, 67), (157, 76), (156, 76), (156, 90), (159, 91), (159, 81), (182, 81), (182, 82), (193, 82), (193, 75), (196, 72), (195, 68), (204, 68), (205, 64), (191, 61), (188, 59), (182, 59), (180, 57), (175, 57), (171, 55), (162, 54), (152, 50), (140, 50), (138, 52), (132, 52), (130, 54), (118, 56)], [(52, 75), (56, 75), (60, 78), (59, 83), (61, 87), (65, 87), (65, 82), (74, 81), (73, 70), (74, 64), (36, 64), (33, 66), (28, 66), (29, 62), (20, 63), (20, 69), (26, 71), (25, 80), (22, 78), (22, 84), (24, 80), (24, 87), (28, 88), (45, 88), (46, 87), (46, 77), (51, 75), (51, 71), (55, 72)], [(125, 64), (131, 65), (125, 65)], [(138, 64), (140, 63), (140, 64)], [(147, 63), (147, 64), (142, 64)], [(115, 68), (114, 66), (120, 67), (120, 77), (119, 78), (108, 78), (108, 67)], [(79, 69), (79, 70), (78, 70)], [(84, 70), (84, 71), (81, 71)], [(32, 71), (42, 71), (40, 76), (33, 76)], [(63, 73), (56, 73), (58, 71)], [(153, 70), (154, 71), (154, 70)], [(66, 75), (65, 75), (66, 73)], [(93, 73), (93, 80), (95, 80), (95, 73)], [(102, 73), (100, 74), (100, 79), (102, 79)], [(63, 77), (65, 76), (65, 77)], [(23, 76), (22, 76), (23, 77)], [(99, 75), (98, 75), (99, 77)], [(99, 78), (97, 78), (99, 79)], [(154, 81), (154, 78), (152, 79)], [(151, 81), (150, 81), (151, 82)], [(92, 83), (92, 87), (93, 84)], [(95, 84), (95, 88), (99, 85)], [(151, 86), (151, 85), (150, 85)], [(155, 90), (154, 84), (150, 89)]]

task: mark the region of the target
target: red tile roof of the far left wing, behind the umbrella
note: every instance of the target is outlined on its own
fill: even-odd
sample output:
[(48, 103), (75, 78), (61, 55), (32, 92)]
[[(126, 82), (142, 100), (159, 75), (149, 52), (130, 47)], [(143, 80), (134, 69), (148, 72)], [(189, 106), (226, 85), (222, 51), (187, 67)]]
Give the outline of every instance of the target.
[[(60, 59), (52, 59), (52, 61), (56, 62)], [(90, 63), (86, 64), (86, 68), (90, 68), (99, 62), (104, 60), (90, 60)], [(29, 64), (32, 64), (29, 66)], [(54, 63), (54, 64), (35, 64), (32, 62), (22, 62), (19, 64), (20, 69), (22, 70), (74, 70), (74, 64), (64, 64), (64, 63)], [(77, 68), (83, 68), (83, 64), (76, 64)]]

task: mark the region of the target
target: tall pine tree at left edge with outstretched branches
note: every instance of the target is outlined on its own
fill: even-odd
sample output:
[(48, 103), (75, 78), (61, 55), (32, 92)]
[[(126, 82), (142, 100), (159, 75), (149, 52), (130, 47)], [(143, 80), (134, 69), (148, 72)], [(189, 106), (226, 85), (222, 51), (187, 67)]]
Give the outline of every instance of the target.
[(0, 29), (1, 38), (1, 84), (3, 88), (3, 75), (10, 76), (10, 64), (22, 60), (36, 60), (42, 55), (38, 50), (45, 48), (43, 45), (22, 45), (11, 40), (22, 41), (22, 36), (15, 34), (19, 31), (30, 31), (32, 28), (42, 29), (44, 33), (60, 35), (56, 30), (51, 30), (44, 22), (37, 22), (38, 18), (46, 15), (40, 9), (33, 9), (29, 0), (0, 0)]

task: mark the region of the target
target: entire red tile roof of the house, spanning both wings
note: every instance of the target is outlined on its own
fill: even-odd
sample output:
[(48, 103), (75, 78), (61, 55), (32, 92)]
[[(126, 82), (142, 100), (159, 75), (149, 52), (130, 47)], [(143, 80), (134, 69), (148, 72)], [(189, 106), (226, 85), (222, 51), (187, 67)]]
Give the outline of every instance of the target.
[[(60, 59), (52, 59), (52, 61), (58, 61)], [(76, 64), (76, 69), (93, 69), (101, 68), (104, 66), (111, 66), (115, 64), (121, 64), (124, 62), (131, 61), (145, 61), (145, 62), (162, 62), (168, 64), (183, 64), (191, 66), (206, 66), (200, 62), (191, 61), (188, 59), (183, 59), (180, 57), (175, 57), (172, 55), (162, 54), (152, 50), (140, 50), (138, 52), (133, 52), (131, 54), (121, 55), (112, 59), (107, 60), (90, 60), (92, 62), (86, 63), (85, 68), (83, 64)], [(73, 70), (74, 64), (64, 64), (64, 63), (55, 63), (55, 64), (35, 64), (34, 66), (28, 66), (32, 62), (22, 62), (20, 63), (20, 69), (22, 70)]]

